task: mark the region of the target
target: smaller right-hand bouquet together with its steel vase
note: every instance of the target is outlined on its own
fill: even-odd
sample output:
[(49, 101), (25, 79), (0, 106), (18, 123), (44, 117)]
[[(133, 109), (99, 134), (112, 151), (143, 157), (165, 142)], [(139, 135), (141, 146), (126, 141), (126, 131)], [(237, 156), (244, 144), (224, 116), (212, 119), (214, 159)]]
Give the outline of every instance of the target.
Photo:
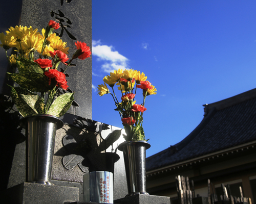
[[(148, 95), (157, 93), (155, 86), (146, 81), (145, 74), (137, 70), (118, 69), (103, 78), (104, 85), (99, 85), (98, 94), (111, 94), (119, 112), (126, 135), (123, 135), (126, 142), (118, 146), (123, 151), (124, 166), (128, 195), (145, 194), (146, 192), (146, 171), (145, 158), (146, 149), (150, 148), (145, 139), (142, 127), (143, 113), (146, 111), (145, 99)], [(136, 87), (135, 86), (136, 83)], [(108, 84), (113, 93), (106, 86)], [(121, 91), (121, 100), (116, 97), (114, 86)], [(135, 96), (137, 89), (142, 89), (143, 103), (136, 104)], [(127, 196), (127, 195), (126, 195)]]

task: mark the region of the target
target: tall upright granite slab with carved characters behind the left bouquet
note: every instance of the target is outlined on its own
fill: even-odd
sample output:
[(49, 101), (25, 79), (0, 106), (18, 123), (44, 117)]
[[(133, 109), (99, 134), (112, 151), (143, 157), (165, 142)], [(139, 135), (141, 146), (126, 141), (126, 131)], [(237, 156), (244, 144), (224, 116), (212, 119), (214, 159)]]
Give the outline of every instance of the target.
[[(63, 27), (56, 30), (56, 32), (60, 34), (63, 42), (67, 42), (69, 58), (75, 53), (75, 42), (77, 40), (87, 43), (92, 48), (91, 0), (11, 0), (11, 2), (8, 1), (8, 4), (5, 1), (4, 6), (1, 6), (1, 10), (16, 11), (16, 13), (13, 13), (13, 16), (9, 19), (7, 13), (5, 15), (5, 12), (3, 12), (5, 16), (2, 19), (7, 20), (4, 23), (4, 28), (1, 28), (1, 32), (5, 33), (8, 28), (15, 27), (19, 22), (20, 25), (32, 26), (33, 29), (37, 28), (41, 32), (42, 28), (46, 28), (49, 20), (59, 20)], [(20, 9), (20, 6), (22, 6), (22, 9)], [(10, 22), (9, 25), (8, 22)], [(0, 64), (0, 70), (4, 70), (1, 74), (1, 79), (3, 78), (1, 87), (4, 90), (1, 93), (8, 94), (9, 88), (5, 86), (6, 81), (4, 81), (6, 77), (3, 77), (6, 75), (8, 63), (3, 50), (1, 47), (1, 62), (3, 64)], [(76, 66), (68, 68), (67, 73), (70, 77), (67, 78), (67, 81), (69, 88), (77, 93), (74, 95), (74, 99), (79, 108), (72, 106), (68, 113), (92, 119), (92, 60), (91, 58), (86, 60), (77, 59), (73, 63)], [(63, 65), (60, 66), (64, 67)]]

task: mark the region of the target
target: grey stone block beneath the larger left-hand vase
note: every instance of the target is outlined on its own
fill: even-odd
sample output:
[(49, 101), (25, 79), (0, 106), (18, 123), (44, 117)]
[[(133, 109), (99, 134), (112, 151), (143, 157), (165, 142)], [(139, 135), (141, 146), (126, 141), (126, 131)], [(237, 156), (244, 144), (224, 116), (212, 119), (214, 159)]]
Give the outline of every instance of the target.
[(22, 183), (1, 192), (0, 195), (3, 203), (63, 204), (68, 201), (79, 201), (79, 188)]

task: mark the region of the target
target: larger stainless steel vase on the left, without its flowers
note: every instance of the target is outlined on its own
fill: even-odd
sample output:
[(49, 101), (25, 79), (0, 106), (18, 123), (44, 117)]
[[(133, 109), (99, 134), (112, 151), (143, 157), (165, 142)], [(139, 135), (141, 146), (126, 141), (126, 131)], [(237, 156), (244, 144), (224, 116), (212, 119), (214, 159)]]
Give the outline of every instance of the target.
[(56, 130), (63, 126), (58, 117), (47, 114), (29, 115), (20, 120), (26, 128), (26, 181), (51, 183)]

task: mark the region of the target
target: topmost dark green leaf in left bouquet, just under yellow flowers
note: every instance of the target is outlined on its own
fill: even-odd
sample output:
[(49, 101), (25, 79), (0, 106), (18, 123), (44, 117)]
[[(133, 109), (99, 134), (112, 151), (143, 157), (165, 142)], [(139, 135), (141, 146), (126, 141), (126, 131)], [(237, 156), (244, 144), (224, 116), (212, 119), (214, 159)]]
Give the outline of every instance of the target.
[(36, 73), (44, 73), (44, 70), (35, 62), (28, 60), (26, 58), (20, 58), (16, 60), (16, 64), (18, 67), (19, 73), (28, 73), (28, 72), (36, 72)]

